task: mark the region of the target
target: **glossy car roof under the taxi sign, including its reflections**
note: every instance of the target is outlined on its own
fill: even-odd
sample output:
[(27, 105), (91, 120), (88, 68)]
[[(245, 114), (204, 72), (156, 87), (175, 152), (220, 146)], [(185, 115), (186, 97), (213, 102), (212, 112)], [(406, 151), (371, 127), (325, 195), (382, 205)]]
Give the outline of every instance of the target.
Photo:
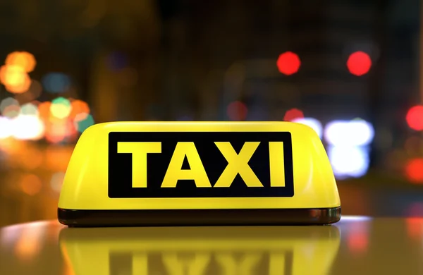
[(333, 226), (0, 229), (0, 274), (422, 274), (423, 219)]

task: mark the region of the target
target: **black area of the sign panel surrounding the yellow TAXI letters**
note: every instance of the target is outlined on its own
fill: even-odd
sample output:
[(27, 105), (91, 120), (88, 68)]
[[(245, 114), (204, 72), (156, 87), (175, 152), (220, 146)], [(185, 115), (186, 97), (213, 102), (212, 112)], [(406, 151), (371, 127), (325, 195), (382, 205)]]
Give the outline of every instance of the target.
[[(147, 188), (133, 188), (132, 154), (118, 153), (118, 142), (161, 142), (161, 153), (147, 154)], [(199, 188), (193, 180), (179, 180), (176, 188), (161, 188), (178, 142), (193, 142), (213, 186), (228, 161), (214, 142), (231, 142), (239, 154), (245, 142), (260, 142), (248, 165), (263, 187), (247, 187), (235, 176), (231, 187)], [(283, 142), (285, 186), (270, 186), (269, 142)], [(181, 169), (190, 169), (184, 159)], [(109, 133), (109, 197), (293, 197), (293, 153), (289, 132), (112, 132)]]

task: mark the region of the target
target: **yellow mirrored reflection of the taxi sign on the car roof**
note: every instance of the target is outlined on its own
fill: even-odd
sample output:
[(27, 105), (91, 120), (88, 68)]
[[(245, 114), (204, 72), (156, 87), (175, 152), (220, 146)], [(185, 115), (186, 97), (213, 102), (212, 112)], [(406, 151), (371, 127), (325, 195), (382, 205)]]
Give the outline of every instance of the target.
[(328, 274), (336, 226), (63, 228), (60, 246), (75, 275)]

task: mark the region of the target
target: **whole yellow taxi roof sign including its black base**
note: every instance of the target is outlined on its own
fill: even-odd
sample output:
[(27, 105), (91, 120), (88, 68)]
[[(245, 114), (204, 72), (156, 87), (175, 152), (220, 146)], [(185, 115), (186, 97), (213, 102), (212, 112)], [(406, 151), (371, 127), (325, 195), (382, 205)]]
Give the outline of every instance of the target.
[(58, 214), (68, 226), (331, 224), (341, 204), (300, 123), (116, 122), (80, 137)]

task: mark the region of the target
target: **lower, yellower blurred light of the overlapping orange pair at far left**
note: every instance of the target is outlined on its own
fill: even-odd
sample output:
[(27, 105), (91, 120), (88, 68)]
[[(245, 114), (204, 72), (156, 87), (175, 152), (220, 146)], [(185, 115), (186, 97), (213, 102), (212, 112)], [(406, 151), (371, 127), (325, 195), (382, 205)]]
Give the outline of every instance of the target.
[(6, 90), (16, 94), (26, 92), (31, 85), (31, 79), (20, 66), (5, 65), (0, 68), (0, 81)]

